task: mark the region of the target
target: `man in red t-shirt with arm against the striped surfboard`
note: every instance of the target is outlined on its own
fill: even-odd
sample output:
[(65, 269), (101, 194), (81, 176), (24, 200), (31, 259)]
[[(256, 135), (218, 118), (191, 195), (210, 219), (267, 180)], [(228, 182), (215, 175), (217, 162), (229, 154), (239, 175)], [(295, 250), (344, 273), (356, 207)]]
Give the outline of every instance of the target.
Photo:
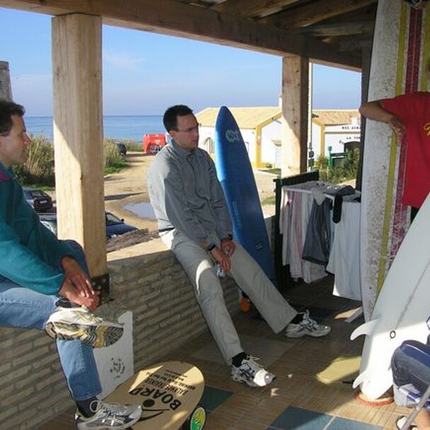
[(430, 192), (430, 93), (417, 92), (361, 105), (369, 120), (385, 122), (406, 145), (402, 203), (419, 209)]

